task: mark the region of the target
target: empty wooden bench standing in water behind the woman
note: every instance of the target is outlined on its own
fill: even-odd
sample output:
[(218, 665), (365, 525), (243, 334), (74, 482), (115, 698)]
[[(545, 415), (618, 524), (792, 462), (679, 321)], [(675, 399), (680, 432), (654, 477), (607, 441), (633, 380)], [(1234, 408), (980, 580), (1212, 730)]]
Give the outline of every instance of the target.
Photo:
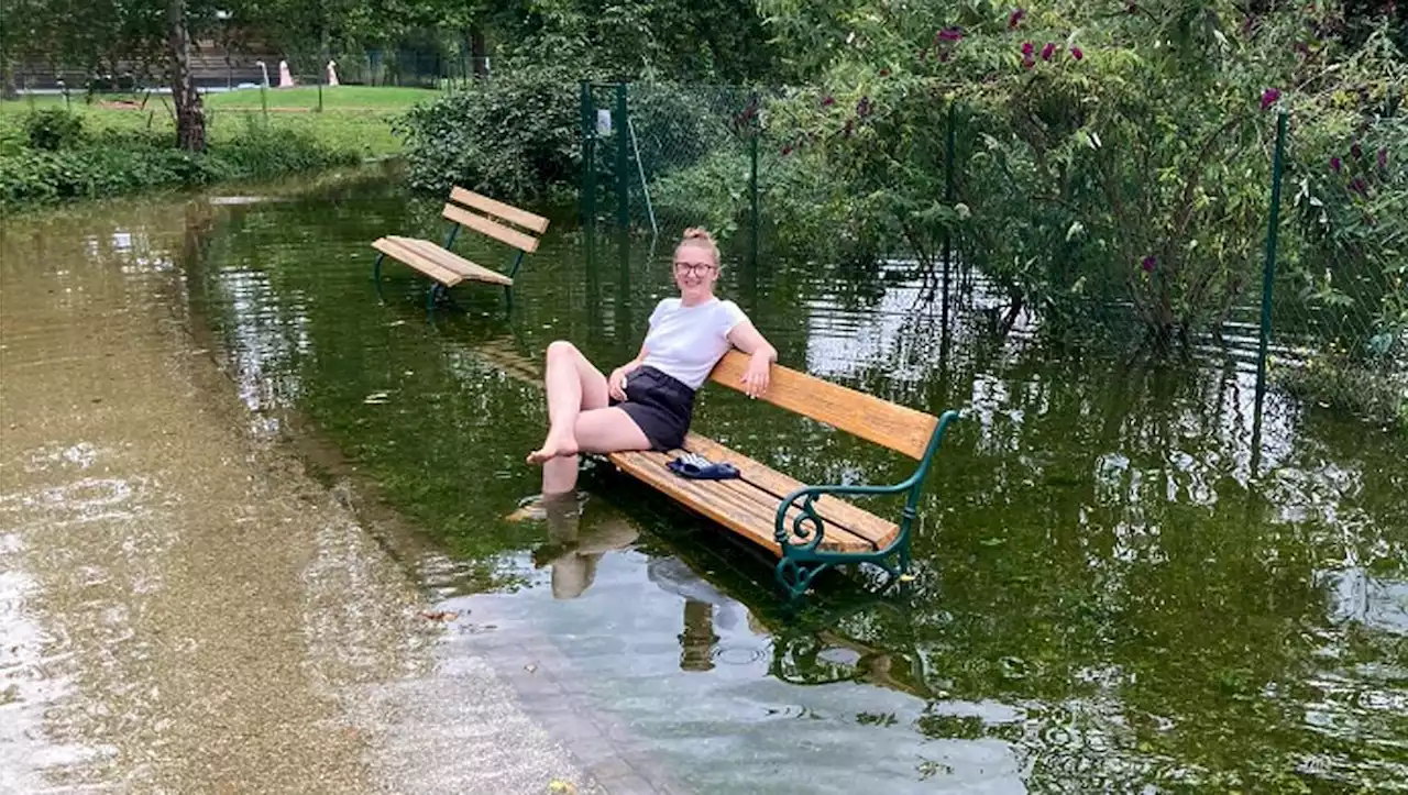
[[(431, 241), (422, 241), (418, 238), (400, 238), (394, 235), (377, 238), (376, 242), (372, 243), (372, 248), (380, 252), (376, 255), (376, 263), (372, 266), (372, 277), (376, 280), (377, 290), (380, 290), (382, 286), (382, 260), (389, 256), (404, 262), (432, 279), (429, 293), (425, 295), (427, 310), (435, 308), (436, 298), (444, 295), (451, 287), (465, 280), (503, 284), (504, 288), (513, 286), (514, 276), (518, 274), (518, 267), (522, 265), (524, 255), (538, 250), (538, 238), (532, 236), (529, 232), (536, 232), (539, 235), (543, 234), (548, 229), (548, 220), (542, 215), (535, 215), (527, 210), (504, 204), (503, 201), (494, 201), (493, 198), (462, 187), (451, 190), (449, 198), (449, 203), (445, 204), (445, 210), (441, 211), (441, 215), (448, 218), (451, 222), (449, 234), (445, 236), (444, 245), (435, 245)], [(460, 204), (463, 207), (460, 207)], [(466, 207), (477, 210), (483, 212), (483, 215), (470, 212)], [(520, 228), (514, 228), (510, 224)], [(482, 265), (476, 265), (449, 250), (451, 246), (455, 245), (455, 236), (459, 234), (460, 227), (482, 232), (496, 241), (508, 243), (510, 246), (518, 249), (518, 256), (514, 257), (514, 263), (508, 269), (507, 276), (498, 273), (497, 270), (490, 270)]]

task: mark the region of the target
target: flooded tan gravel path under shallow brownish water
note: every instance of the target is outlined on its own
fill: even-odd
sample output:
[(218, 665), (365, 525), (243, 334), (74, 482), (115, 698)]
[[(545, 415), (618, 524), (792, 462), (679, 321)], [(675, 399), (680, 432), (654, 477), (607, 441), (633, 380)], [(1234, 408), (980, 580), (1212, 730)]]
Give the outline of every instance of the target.
[(208, 211), (6, 229), (0, 791), (590, 791), (196, 345)]

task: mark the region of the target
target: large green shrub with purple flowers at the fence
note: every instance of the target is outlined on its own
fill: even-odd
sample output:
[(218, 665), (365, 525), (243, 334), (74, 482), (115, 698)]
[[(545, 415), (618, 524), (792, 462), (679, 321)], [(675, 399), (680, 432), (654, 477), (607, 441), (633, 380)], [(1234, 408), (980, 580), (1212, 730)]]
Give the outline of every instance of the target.
[[(887, 246), (932, 265), (956, 239), (1048, 321), (1124, 305), (1160, 339), (1215, 325), (1259, 281), (1276, 113), (1307, 138), (1402, 124), (1385, 121), (1402, 59), (1381, 32), (1353, 51), (1321, 35), (1331, 7), (763, 7), (822, 84), (769, 108), (773, 136)], [(1401, 239), (1376, 224), (1360, 231)]]

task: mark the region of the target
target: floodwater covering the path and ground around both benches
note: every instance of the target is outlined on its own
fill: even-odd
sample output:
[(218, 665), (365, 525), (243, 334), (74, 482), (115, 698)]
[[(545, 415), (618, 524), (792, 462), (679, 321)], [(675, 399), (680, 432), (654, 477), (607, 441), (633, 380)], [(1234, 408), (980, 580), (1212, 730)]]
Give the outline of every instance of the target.
[[(1408, 789), (1402, 436), (1273, 393), (1253, 443), (1243, 352), (998, 335), (981, 279), (945, 310), (901, 266), (731, 260), (783, 363), (964, 412), (907, 591), (832, 578), (788, 615), (765, 556), (605, 467), (580, 515), (522, 521), (543, 350), (634, 355), (669, 245), (558, 214), (511, 304), (465, 286), (427, 318), (404, 267), (377, 298), (367, 243), (435, 217), (373, 177), (7, 228), (0, 622), (24, 677), (0, 770), (218, 785), (291, 747), (266, 777), (375, 787), (436, 725), (486, 722), (445, 718), (477, 691), (431, 689), (480, 664), (539, 744), (477, 767), (541, 753), (610, 791)], [(811, 483), (910, 466), (719, 388), (696, 426)], [(270, 571), (283, 591), (241, 590)], [(396, 688), (438, 720), (363, 715)], [(211, 722), (238, 754), (187, 732)], [(329, 725), (362, 729), (296, 746)]]

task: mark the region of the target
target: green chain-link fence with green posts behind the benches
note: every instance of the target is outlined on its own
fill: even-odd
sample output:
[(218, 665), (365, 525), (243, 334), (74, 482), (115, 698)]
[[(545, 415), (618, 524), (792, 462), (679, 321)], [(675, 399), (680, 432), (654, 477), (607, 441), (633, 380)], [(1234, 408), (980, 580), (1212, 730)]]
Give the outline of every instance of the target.
[[(1267, 386), (1307, 401), (1408, 424), (1408, 259), (1367, 245), (1393, 238), (1376, 224), (1408, 212), (1388, 142), (1363, 131), (1302, 141), (1290, 120), (1277, 153), (1277, 117), (1264, 114), (1217, 151), (1225, 169), (1176, 174), (1170, 189), (1146, 167), (1166, 144), (1128, 129), (1093, 141), (1050, 172), (1059, 189), (1041, 190), (1039, 173), (1021, 177), (1046, 163), (997, 144), (1032, 131), (949, 104), (922, 129), (862, 132), (869, 97), (831, 121), (815, 113), (838, 101), (817, 89), (583, 84), (583, 218), (648, 234), (705, 225), (753, 256), (801, 245), (929, 273), (979, 269), (1011, 291), (1010, 317), (1132, 321), (1255, 362)], [(822, 138), (825, 158), (801, 156)], [(1111, 151), (1146, 156), (1114, 162)], [(891, 190), (900, 183), (908, 196)], [(1180, 225), (1174, 246), (1167, 229)]]

